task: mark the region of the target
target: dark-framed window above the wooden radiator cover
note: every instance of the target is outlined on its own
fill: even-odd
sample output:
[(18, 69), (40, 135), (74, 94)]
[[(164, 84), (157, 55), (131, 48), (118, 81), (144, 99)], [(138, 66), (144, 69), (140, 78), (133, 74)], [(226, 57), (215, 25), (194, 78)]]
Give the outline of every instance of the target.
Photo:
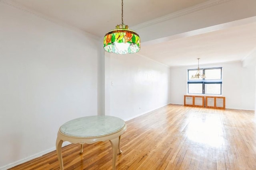
[(191, 78), (196, 71), (188, 70), (188, 94), (222, 94), (222, 67), (202, 68), (206, 78)]

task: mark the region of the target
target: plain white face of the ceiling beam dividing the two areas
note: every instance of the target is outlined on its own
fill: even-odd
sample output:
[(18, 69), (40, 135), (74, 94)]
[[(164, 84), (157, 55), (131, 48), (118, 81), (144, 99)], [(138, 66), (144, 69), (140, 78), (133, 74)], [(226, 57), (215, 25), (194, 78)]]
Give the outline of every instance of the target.
[[(171, 18), (170, 20), (155, 22), (145, 27), (132, 27), (141, 37), (141, 42), (190, 33), (190, 31), (209, 28), (214, 25), (231, 23), (232, 21), (252, 18), (256, 16), (255, 0), (230, 0), (203, 10)], [(160, 19), (162, 20), (162, 19)], [(214, 28), (214, 27), (212, 27)], [(218, 29), (221, 29), (219, 27)]]

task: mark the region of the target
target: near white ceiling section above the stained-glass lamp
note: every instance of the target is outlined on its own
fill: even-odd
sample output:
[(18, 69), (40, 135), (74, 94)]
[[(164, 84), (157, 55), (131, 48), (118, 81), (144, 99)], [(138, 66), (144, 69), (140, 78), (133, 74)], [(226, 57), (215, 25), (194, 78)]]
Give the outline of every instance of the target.
[[(132, 27), (207, 0), (124, 0), (124, 24)], [(121, 0), (8, 0), (52, 20), (103, 37), (122, 23)]]

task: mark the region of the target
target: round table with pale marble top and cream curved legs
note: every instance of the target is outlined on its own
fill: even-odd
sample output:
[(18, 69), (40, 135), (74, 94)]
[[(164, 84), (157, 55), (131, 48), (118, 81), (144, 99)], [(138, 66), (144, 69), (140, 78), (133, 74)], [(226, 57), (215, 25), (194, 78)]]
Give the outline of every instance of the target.
[(56, 139), (60, 170), (64, 169), (61, 152), (63, 141), (81, 144), (80, 153), (83, 152), (84, 143), (110, 141), (113, 151), (112, 170), (115, 170), (116, 155), (122, 152), (120, 150), (120, 138), (124, 131), (126, 131), (126, 123), (114, 116), (86, 116), (64, 123), (59, 129)]

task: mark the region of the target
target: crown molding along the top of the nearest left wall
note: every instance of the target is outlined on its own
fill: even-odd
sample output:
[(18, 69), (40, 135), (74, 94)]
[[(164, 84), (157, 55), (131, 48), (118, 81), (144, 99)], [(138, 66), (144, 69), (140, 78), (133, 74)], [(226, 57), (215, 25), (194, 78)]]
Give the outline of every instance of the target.
[(70, 29), (70, 30), (82, 33), (82, 34), (84, 34), (84, 35), (86, 35), (86, 36), (88, 36), (88, 37), (90, 37), (92, 39), (95, 39), (96, 41), (101, 39), (101, 37), (98, 37), (96, 35), (90, 34), (90, 33), (86, 32), (85, 30), (82, 30), (82, 29), (79, 29), (77, 27), (74, 27), (74, 26), (72, 26), (72, 25), (70, 25), (68, 23), (64, 23), (64, 22), (60, 22), (58, 20), (54, 20), (54, 19), (50, 18), (49, 16), (46, 16), (44, 14), (40, 14), (40, 13), (32, 10), (31, 8), (27, 8), (25, 6), (21, 6), (20, 4), (16, 4), (12, 0), (8, 0), (8, 1), (7, 0), (0, 0), (0, 3), (5, 4), (7, 6), (10, 6), (12, 8), (16, 8), (16, 9), (21, 10), (23, 12), (26, 12), (28, 14), (34, 15), (34, 16), (36, 16), (38, 18), (43, 19), (43, 20), (52, 22), (52, 23), (54, 23), (56, 25), (60, 25), (60, 26), (65, 27), (67, 29)]

